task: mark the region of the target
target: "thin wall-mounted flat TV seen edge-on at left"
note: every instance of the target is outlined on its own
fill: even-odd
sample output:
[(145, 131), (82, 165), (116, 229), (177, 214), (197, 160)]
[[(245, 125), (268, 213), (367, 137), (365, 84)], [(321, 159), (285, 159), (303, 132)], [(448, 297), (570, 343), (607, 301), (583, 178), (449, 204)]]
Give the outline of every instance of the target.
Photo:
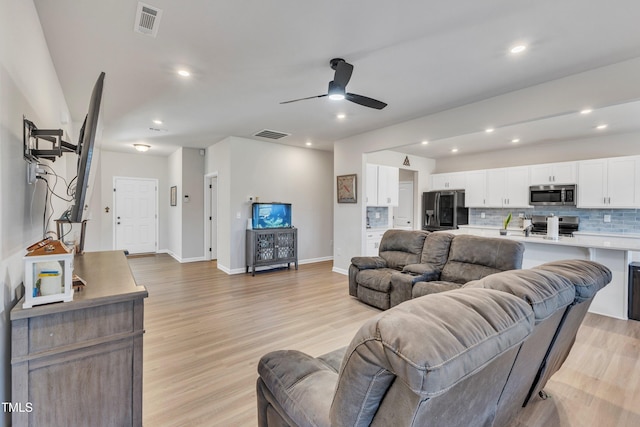
[(76, 188), (73, 196), (73, 205), (63, 214), (61, 219), (69, 222), (82, 222), (90, 199), (89, 189), (93, 185), (94, 173), (91, 171), (91, 161), (94, 157), (94, 146), (96, 134), (98, 132), (98, 119), (100, 117), (100, 102), (102, 101), (102, 88), (104, 86), (104, 72), (101, 72), (96, 81), (89, 110), (80, 129), (80, 137), (76, 153), (78, 154), (78, 175), (76, 177)]

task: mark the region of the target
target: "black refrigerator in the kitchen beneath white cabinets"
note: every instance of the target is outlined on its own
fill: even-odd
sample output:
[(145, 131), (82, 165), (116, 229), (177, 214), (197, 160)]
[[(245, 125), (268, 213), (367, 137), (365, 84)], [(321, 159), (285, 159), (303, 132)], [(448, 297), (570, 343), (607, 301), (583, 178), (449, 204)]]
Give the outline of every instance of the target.
[(469, 209), (464, 206), (464, 190), (422, 193), (422, 229), (453, 230), (469, 224)]

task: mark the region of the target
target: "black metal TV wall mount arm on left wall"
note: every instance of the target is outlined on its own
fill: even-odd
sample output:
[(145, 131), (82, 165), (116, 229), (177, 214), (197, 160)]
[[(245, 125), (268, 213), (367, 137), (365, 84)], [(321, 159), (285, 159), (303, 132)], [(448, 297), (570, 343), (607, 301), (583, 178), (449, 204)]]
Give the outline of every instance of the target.
[[(62, 139), (64, 131), (62, 129), (38, 129), (38, 127), (26, 117), (22, 116), (23, 122), (23, 155), (28, 162), (39, 160), (56, 161), (64, 153), (77, 153), (78, 146)], [(41, 146), (41, 141), (46, 141), (46, 147)]]

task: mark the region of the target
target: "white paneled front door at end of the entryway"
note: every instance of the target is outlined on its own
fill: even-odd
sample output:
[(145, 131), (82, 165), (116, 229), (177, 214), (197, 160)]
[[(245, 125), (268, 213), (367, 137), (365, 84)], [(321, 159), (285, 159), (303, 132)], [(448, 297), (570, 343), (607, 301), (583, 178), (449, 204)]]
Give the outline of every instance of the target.
[(157, 188), (155, 179), (114, 178), (115, 249), (156, 252)]

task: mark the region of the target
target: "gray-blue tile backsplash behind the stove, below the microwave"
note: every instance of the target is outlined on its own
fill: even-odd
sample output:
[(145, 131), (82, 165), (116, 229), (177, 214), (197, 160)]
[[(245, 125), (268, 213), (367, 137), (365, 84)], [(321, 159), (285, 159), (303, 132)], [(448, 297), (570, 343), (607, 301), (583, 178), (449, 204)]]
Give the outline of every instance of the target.
[[(580, 231), (640, 235), (640, 209), (549, 209), (543, 207), (528, 209), (470, 208), (469, 224), (501, 227), (502, 221), (504, 221), (509, 212), (511, 212), (514, 217), (511, 222), (512, 227), (518, 226), (518, 214), (521, 213), (527, 217), (550, 214), (556, 216), (571, 215), (580, 218)], [(484, 218), (482, 218), (483, 213)], [(611, 216), (611, 222), (604, 222), (605, 215)]]

